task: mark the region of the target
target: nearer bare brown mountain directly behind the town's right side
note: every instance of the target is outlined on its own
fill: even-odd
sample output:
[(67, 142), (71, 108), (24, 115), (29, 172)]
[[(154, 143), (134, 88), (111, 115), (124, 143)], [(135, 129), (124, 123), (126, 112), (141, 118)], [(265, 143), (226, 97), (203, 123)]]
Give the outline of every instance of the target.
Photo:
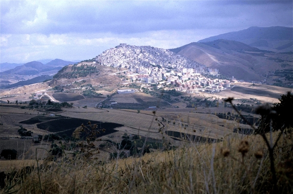
[(190, 60), (243, 80), (262, 80), (267, 73), (292, 67), (290, 54), (273, 53), (237, 41), (215, 40), (170, 49)]

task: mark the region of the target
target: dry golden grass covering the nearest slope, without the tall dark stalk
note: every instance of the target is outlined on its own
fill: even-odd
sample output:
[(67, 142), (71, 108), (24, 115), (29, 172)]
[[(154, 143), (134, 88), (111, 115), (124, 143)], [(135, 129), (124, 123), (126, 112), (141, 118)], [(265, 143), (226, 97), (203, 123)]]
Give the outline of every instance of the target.
[[(278, 194), (293, 193), (292, 153), (291, 130), (274, 150)], [(0, 193), (239, 194), (272, 193), (273, 187), (269, 153), (259, 135), (227, 136), (215, 144), (183, 142), (176, 150), (108, 163), (63, 157), (40, 168), (15, 171), (5, 181)]]

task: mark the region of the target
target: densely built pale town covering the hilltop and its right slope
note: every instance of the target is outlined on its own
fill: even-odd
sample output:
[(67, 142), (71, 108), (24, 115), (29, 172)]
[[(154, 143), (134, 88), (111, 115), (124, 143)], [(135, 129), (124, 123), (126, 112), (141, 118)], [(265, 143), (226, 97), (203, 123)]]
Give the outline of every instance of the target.
[(220, 92), (229, 88), (231, 83), (237, 82), (234, 77), (232, 80), (219, 79), (217, 69), (191, 62), (169, 50), (149, 46), (120, 44), (104, 51), (95, 60), (104, 66), (127, 68), (128, 71), (117, 73), (125, 78), (125, 84), (145, 82), (157, 84), (158, 88), (163, 87), (163, 84), (170, 84), (176, 91), (188, 94)]

